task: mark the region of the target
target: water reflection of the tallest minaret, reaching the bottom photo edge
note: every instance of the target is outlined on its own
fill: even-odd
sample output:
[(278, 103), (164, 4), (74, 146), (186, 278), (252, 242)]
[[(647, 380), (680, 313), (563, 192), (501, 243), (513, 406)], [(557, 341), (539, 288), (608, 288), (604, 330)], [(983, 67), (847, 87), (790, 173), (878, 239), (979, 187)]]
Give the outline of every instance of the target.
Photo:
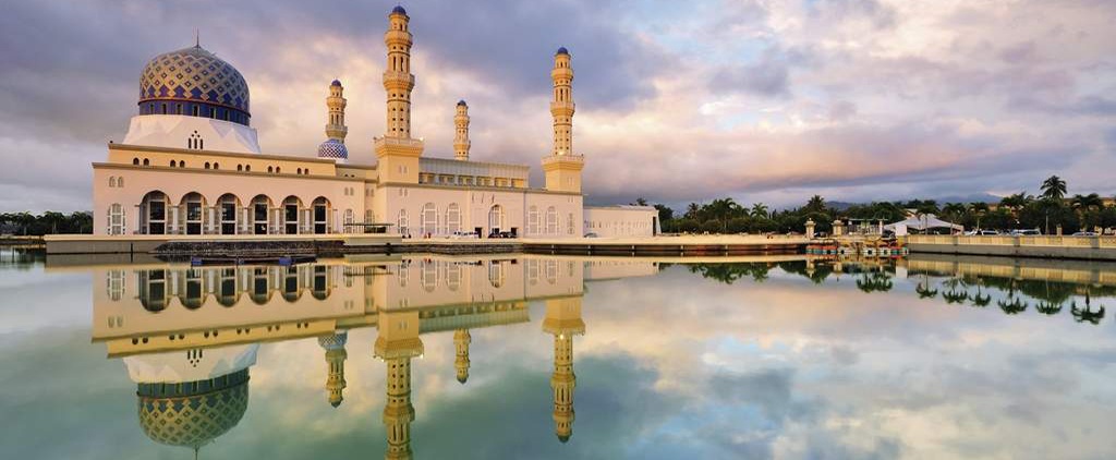
[(411, 422), (415, 409), (411, 405), (411, 358), (423, 353), (419, 338), (419, 312), (381, 310), (379, 336), (375, 354), (387, 366), (387, 401), (384, 403), (384, 429), (387, 431), (385, 459), (410, 459)]

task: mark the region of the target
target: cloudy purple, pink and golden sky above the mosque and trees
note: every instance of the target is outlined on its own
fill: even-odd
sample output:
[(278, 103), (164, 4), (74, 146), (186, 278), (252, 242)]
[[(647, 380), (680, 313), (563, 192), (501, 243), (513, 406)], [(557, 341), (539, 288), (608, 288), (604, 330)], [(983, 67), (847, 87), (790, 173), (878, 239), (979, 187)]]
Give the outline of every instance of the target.
[[(201, 45), (248, 80), (264, 153), (312, 156), (339, 78), (346, 144), (384, 132), (385, 1), (8, 0), (0, 212), (87, 210), (152, 57)], [(675, 207), (1003, 195), (1057, 174), (1116, 193), (1116, 2), (1106, 0), (413, 1), (413, 135), (452, 157), (550, 151), (554, 51), (575, 71), (591, 204)]]

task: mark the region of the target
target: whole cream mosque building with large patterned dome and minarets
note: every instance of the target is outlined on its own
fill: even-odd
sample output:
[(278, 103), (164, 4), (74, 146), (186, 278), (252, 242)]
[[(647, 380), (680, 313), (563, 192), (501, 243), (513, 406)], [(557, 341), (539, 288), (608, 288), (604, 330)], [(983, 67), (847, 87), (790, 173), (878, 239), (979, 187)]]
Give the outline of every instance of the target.
[[(574, 70), (554, 56), (551, 151), (545, 185), (530, 166), (470, 160), (469, 105), (456, 103), (452, 157), (424, 155), (412, 135), (413, 36), (402, 7), (388, 15), (383, 86), (386, 125), (375, 162), (346, 146), (345, 88), (328, 85), (326, 141), (317, 157), (260, 150), (249, 87), (229, 63), (195, 44), (156, 56), (140, 78), (138, 115), (122, 143), (93, 164), (94, 232), (133, 234), (339, 234), (404, 237), (507, 233), (575, 238), (653, 236), (650, 207), (586, 207), (585, 156), (574, 150)], [(263, 237), (261, 237), (263, 238)]]

